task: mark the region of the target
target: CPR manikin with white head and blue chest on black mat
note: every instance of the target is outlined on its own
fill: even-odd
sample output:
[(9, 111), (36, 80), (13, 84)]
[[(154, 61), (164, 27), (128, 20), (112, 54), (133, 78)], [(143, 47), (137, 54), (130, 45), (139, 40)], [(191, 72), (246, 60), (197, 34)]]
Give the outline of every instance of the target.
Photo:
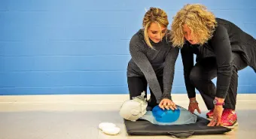
[(152, 110), (147, 111), (147, 106), (145, 92), (142, 92), (142, 95), (122, 104), (120, 116), (133, 122), (138, 119), (145, 119), (154, 125), (182, 125), (197, 122), (197, 116), (183, 107), (177, 106), (177, 110), (162, 110), (157, 105)]

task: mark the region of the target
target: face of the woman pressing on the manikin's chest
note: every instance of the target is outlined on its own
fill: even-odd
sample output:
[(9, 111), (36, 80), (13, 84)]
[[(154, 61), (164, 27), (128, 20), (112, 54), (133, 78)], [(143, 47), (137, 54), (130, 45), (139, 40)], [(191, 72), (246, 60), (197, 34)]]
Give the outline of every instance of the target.
[[(166, 27), (160, 26), (157, 23), (151, 23), (151, 26), (148, 27), (148, 37), (154, 43), (158, 43), (162, 40), (163, 36), (166, 35)], [(162, 35), (161, 35), (162, 32)]]

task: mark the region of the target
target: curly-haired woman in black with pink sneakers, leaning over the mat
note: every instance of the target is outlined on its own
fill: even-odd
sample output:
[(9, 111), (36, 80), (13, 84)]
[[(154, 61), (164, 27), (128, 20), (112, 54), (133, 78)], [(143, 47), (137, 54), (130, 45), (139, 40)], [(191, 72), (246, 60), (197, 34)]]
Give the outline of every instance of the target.
[[(250, 66), (256, 72), (256, 40), (234, 23), (215, 17), (204, 5), (185, 5), (172, 22), (171, 41), (181, 47), (188, 110), (200, 109), (195, 88), (212, 118), (209, 126), (237, 125), (237, 71)], [(194, 54), (196, 64), (194, 65)], [(212, 79), (217, 77), (216, 86)]]

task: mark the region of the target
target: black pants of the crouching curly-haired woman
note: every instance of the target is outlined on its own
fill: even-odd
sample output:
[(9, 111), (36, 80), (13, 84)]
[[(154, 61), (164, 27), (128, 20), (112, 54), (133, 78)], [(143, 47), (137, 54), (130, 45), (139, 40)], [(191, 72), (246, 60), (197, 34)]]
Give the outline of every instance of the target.
[[(238, 86), (237, 71), (247, 67), (247, 64), (242, 60), (238, 53), (233, 53), (233, 73), (230, 80), (230, 87), (227, 91), (227, 97), (224, 101), (224, 108), (236, 109), (236, 95)], [(203, 101), (208, 110), (214, 108), (212, 101), (216, 95), (215, 84), (212, 79), (217, 77), (217, 65), (215, 59), (209, 58), (205, 62), (197, 62), (190, 71), (190, 82), (202, 95)]]

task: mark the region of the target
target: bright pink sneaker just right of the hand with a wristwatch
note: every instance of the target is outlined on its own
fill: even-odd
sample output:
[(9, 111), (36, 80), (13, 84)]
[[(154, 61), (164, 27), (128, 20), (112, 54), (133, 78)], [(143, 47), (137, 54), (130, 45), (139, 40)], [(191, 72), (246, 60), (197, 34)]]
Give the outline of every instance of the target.
[(235, 110), (224, 109), (221, 116), (221, 125), (227, 128), (234, 128), (238, 125)]

